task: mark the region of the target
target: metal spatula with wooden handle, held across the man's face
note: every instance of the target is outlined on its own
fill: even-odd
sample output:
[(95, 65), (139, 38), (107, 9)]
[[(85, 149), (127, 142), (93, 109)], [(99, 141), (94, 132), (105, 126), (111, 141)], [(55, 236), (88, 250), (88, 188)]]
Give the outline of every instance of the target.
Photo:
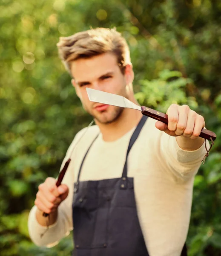
[[(102, 104), (118, 106), (121, 108), (137, 109), (137, 110), (141, 111), (141, 113), (145, 116), (149, 116), (153, 119), (161, 121), (166, 125), (168, 124), (168, 117), (164, 113), (155, 111), (154, 109), (147, 108), (145, 106), (140, 107), (120, 95), (106, 93), (106, 92), (91, 89), (88, 87), (86, 88), (86, 90), (87, 90), (88, 98), (92, 102), (98, 102), (98, 103), (102, 103)], [(203, 128), (201, 131), (200, 137), (207, 139), (207, 140), (211, 140), (211, 138), (212, 138), (212, 140), (215, 140), (216, 134), (212, 131), (209, 131), (209, 130)]]

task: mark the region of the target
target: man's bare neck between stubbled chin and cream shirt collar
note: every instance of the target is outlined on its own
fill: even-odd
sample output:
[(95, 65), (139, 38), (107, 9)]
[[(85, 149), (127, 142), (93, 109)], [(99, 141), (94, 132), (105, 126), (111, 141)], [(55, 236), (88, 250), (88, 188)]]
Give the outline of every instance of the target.
[[(135, 99), (132, 99), (131, 101), (138, 105), (138, 102)], [(103, 140), (115, 141), (137, 126), (138, 122), (141, 120), (141, 117), (141, 111), (124, 108), (121, 116), (119, 116), (119, 118), (112, 123), (102, 124), (96, 120), (95, 122), (100, 128), (100, 132), (103, 135)]]

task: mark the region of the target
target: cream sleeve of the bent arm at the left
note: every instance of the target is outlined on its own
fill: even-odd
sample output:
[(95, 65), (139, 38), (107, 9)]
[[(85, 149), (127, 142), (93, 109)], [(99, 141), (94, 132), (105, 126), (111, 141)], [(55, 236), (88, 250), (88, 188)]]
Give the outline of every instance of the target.
[[(66, 153), (66, 157), (62, 162), (60, 170), (63, 168), (66, 160), (68, 160), (69, 157), (74, 158), (75, 151), (72, 152), (72, 149), (75, 147), (83, 130), (81, 130), (76, 134), (75, 139), (72, 141), (72, 144), (69, 146), (69, 149)], [(36, 219), (36, 210), (37, 210), (36, 206), (32, 207), (29, 213), (29, 219), (28, 219), (29, 236), (34, 242), (34, 244), (36, 244), (37, 246), (52, 247), (55, 244), (57, 244), (60, 241), (60, 239), (67, 236), (70, 230), (73, 229), (72, 199), (73, 199), (73, 189), (74, 189), (74, 172), (73, 172), (71, 163), (72, 161), (70, 162), (69, 167), (62, 181), (63, 184), (66, 184), (69, 187), (69, 194), (67, 198), (58, 207), (57, 221), (47, 228), (45, 226), (41, 226), (38, 223)], [(44, 234), (44, 235), (41, 237), (41, 234)]]

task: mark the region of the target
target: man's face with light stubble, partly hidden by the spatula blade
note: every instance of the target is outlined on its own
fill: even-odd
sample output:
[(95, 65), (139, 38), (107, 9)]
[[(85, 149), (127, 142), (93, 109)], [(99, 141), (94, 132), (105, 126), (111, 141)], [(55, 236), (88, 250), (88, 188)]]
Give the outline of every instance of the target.
[[(128, 65), (129, 66), (129, 65)], [(79, 59), (71, 65), (72, 83), (83, 108), (100, 123), (114, 122), (121, 116), (123, 108), (89, 101), (86, 88), (114, 93), (128, 98), (127, 84), (132, 83), (132, 67), (126, 67), (125, 74), (112, 53), (104, 53), (88, 59)]]

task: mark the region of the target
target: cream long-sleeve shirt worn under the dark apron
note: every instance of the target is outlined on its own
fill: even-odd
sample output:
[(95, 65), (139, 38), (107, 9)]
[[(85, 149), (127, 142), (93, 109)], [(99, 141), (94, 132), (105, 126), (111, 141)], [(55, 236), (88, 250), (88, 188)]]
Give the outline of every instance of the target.
[[(134, 129), (113, 142), (105, 142), (99, 134), (83, 164), (80, 181), (121, 177)], [(63, 164), (84, 132), (75, 136)], [(35, 244), (53, 246), (73, 229), (74, 182), (83, 156), (98, 133), (98, 126), (89, 127), (72, 152), (62, 182), (69, 186), (69, 195), (58, 208), (56, 223), (43, 238), (40, 234), (46, 227), (38, 224), (36, 207), (31, 209), (29, 234)], [(129, 152), (128, 177), (134, 177), (138, 218), (150, 256), (180, 256), (189, 228), (194, 176), (205, 152), (204, 145), (195, 151), (182, 150), (175, 137), (155, 128), (155, 120), (150, 118)]]

